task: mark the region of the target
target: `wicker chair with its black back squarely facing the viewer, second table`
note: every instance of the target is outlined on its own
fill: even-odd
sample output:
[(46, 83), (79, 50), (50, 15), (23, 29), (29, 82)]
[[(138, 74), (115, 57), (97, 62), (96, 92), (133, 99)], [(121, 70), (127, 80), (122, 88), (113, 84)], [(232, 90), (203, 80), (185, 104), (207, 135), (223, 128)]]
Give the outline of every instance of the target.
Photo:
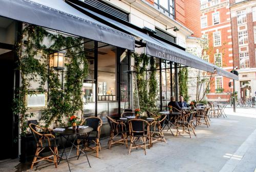
[[(146, 155), (146, 145), (148, 145), (148, 148), (150, 148), (150, 124), (143, 119), (131, 119), (129, 120), (129, 132), (131, 137), (131, 143), (130, 143), (130, 149), (129, 149), (129, 155), (131, 155), (132, 149), (138, 149), (141, 148), (144, 150)], [(141, 143), (135, 143), (135, 139), (141, 138)], [(146, 140), (148, 138), (148, 143), (146, 144)], [(133, 146), (133, 144), (135, 146)]]

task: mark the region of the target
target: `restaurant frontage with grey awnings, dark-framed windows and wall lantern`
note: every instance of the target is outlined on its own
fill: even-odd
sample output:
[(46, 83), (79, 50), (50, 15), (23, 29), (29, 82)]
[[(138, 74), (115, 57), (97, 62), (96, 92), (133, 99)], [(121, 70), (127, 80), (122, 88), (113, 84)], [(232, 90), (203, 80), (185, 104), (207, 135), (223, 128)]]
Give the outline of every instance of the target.
[[(69, 66), (72, 66), (73, 59), (77, 55), (83, 58), (76, 62), (86, 59), (83, 63), (78, 64), (87, 71), (86, 77), (81, 81), (73, 81), (74, 83), (82, 82), (79, 85), (81, 86), (82, 110), (79, 110), (76, 115), (80, 118), (100, 117), (104, 123), (101, 129), (102, 135), (109, 133), (106, 116), (120, 115), (124, 109), (139, 107), (139, 101), (136, 100), (139, 100), (141, 95), (137, 94), (137, 79), (134, 72), (135, 53), (145, 54), (155, 61), (153, 70), (156, 71), (155, 78), (159, 88), (155, 106), (158, 110), (167, 110), (170, 96), (176, 96), (177, 99), (179, 68), (189, 66), (230, 79), (238, 79), (232, 73), (185, 52), (182, 40), (185, 40), (186, 35), (192, 32), (174, 20), (175, 10), (174, 4), (172, 4), (174, 1), (168, 1), (166, 7), (166, 4), (155, 3), (153, 5), (157, 8), (152, 7), (151, 11), (147, 11), (155, 13), (158, 11), (164, 14), (152, 21), (156, 23), (154, 26), (150, 22), (146, 22), (146, 20), (151, 21), (154, 17), (151, 20), (143, 18), (150, 18), (150, 15), (143, 16), (145, 11), (142, 11), (145, 7), (152, 6), (147, 1), (136, 2), (137, 4), (125, 1), (121, 5), (123, 8), (117, 8), (120, 7), (120, 3), (123, 3), (120, 1), (106, 3), (105, 1), (72, 0), (43, 2), (39, 0), (0, 0), (0, 3), (1, 78), (2, 81), (5, 81), (5, 84), (1, 86), (3, 90), (6, 90), (3, 96), (5, 100), (2, 100), (1, 106), (6, 113), (4, 128), (8, 129), (5, 138), (9, 142), (5, 143), (5, 146), (8, 145), (12, 150), (12, 154), (1, 155), (1, 159), (22, 156), (24, 152), (24, 142), (20, 136), (24, 127), (19, 121), (23, 114), (15, 115), (16, 107), (13, 107), (17, 105), (13, 104), (13, 100), (20, 97), (20, 92), (24, 91), (21, 89), (24, 88), (24, 80), (32, 78), (26, 88), (27, 92), (25, 91), (27, 94), (22, 97), (26, 105), (25, 113), (31, 114), (27, 116), (26, 120), (38, 120), (41, 121), (41, 124), (51, 121), (50, 127), (57, 127), (61, 123), (60, 120), (65, 120), (59, 114), (48, 120), (47, 113), (45, 113), (47, 111), (44, 110), (50, 109), (49, 112), (53, 112), (51, 109), (54, 107), (54, 102), (51, 102), (52, 92), (56, 90), (68, 92), (70, 88), (68, 86), (74, 86), (67, 83), (71, 80)], [(130, 10), (128, 10), (129, 8)], [(168, 20), (168, 25), (165, 24), (165, 20), (166, 22)], [(138, 21), (143, 22), (143, 26)], [(172, 27), (176, 27), (174, 28), (176, 31), (166, 30), (166, 28)], [(177, 29), (180, 32), (177, 32)], [(24, 31), (27, 34), (24, 34)], [(42, 38), (40, 40), (31, 37), (35, 42), (40, 42), (40, 45), (33, 44), (32, 49), (40, 47), (40, 50), (44, 50), (35, 54), (33, 51), (32, 58), (46, 64), (42, 70), (48, 73), (48, 76), (41, 75), (33, 78), (31, 77), (33, 73), (23, 76), (26, 66), (22, 68), (23, 71), (20, 70), (20, 64), (24, 64), (23, 60), (26, 59), (25, 55), (31, 55), (28, 47), (31, 45), (30, 36), (33, 33), (45, 35), (45, 37), (40, 37)], [(55, 46), (55, 42), (59, 38), (63, 38), (62, 44), (64, 40), (73, 42), (69, 41), (65, 46)], [(54, 51), (48, 50), (49, 47), (55, 47)], [(56, 47), (61, 48), (56, 51)], [(52, 56), (45, 58), (46, 52), (51, 52)], [(55, 56), (57, 61), (55, 61)], [(20, 57), (23, 59), (21, 60)], [(41, 65), (35, 66), (40, 67)], [(152, 72), (151, 65), (147, 64), (146, 80), (150, 72)], [(147, 73), (149, 74), (147, 75)], [(56, 87), (54, 83), (50, 82), (53, 81), (54, 76), (57, 76), (58, 80), (55, 82), (55, 84), (57, 83)], [(45, 81), (44, 77), (46, 77)], [(43, 84), (41, 84), (42, 81), (44, 81)], [(72, 99), (74, 98), (72, 97)], [(76, 103), (71, 105), (76, 106)], [(60, 112), (58, 111), (58, 113)], [(65, 114), (65, 112), (61, 113)], [(45, 118), (42, 119), (42, 116)], [(11, 130), (9, 130), (10, 124), (12, 124)]]

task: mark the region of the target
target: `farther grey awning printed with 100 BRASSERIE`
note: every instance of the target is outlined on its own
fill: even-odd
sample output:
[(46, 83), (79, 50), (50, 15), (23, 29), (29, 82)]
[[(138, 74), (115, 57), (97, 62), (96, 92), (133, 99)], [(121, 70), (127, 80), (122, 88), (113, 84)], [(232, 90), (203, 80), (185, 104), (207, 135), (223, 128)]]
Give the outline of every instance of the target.
[[(219, 67), (215, 66), (214, 64), (208, 63), (197, 56), (194, 56), (190, 53), (187, 53), (187, 52), (181, 50), (178, 47), (175, 47), (173, 45), (170, 45), (168, 43), (160, 41), (156, 38), (148, 36), (136, 29), (126, 26), (125, 24), (122, 24), (122, 23), (115, 21), (111, 18), (105, 17), (99, 13), (93, 12), (87, 8), (83, 8), (79, 5), (76, 5), (73, 3), (74, 1), (72, 1), (72, 0), (68, 0), (68, 2), (72, 7), (78, 9), (79, 11), (91, 13), (92, 15), (107, 21), (108, 23), (112, 24), (113, 26), (119, 28), (122, 31), (129, 32), (134, 36), (142, 38), (144, 41), (146, 41), (146, 54), (147, 55), (158, 57), (158, 58), (169, 60), (169, 61), (173, 61), (176, 63), (183, 64), (185, 66), (194, 67), (194, 68), (205, 70), (205, 71), (212, 72), (212, 73), (215, 73), (215, 69), (216, 69), (218, 75), (222, 75), (224, 77), (238, 80), (238, 76), (233, 75), (233, 73), (230, 73), (222, 68), (219, 68)], [(81, 2), (80, 2), (80, 4), (81, 4)]]

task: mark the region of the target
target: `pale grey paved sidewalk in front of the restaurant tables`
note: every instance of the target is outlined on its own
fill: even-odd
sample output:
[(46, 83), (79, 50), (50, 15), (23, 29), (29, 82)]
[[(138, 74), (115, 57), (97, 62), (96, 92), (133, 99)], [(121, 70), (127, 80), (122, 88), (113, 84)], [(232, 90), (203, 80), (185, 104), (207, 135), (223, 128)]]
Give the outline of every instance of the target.
[[(164, 133), (167, 143), (158, 142), (147, 151), (133, 150), (127, 155), (124, 145), (114, 146), (111, 150), (103, 149), (99, 158), (89, 156), (92, 168), (86, 157), (71, 159), (72, 171), (170, 171), (170, 172), (254, 172), (256, 167), (256, 110), (231, 108), (225, 110), (227, 118), (211, 118), (210, 127), (196, 128), (197, 137), (188, 134), (172, 136)], [(174, 131), (174, 130), (173, 130)], [(106, 148), (108, 140), (101, 140)], [(60, 151), (59, 151), (60, 152)], [(42, 162), (45, 163), (45, 162)], [(65, 161), (58, 168), (53, 165), (35, 165), (34, 170), (69, 171)], [(33, 171), (29, 164), (18, 160), (0, 162), (0, 171)], [(47, 167), (44, 167), (47, 166)]]

